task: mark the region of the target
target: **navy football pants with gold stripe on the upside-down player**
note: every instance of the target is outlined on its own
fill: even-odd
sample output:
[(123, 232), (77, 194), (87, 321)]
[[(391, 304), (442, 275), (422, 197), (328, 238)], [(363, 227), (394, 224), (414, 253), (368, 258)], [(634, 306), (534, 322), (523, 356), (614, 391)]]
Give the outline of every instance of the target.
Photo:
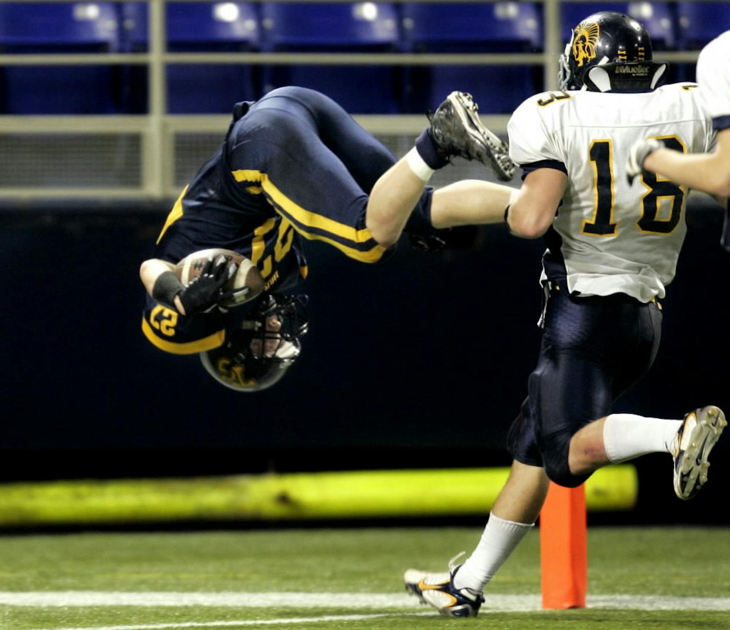
[[(369, 234), (353, 237), (347, 228), (364, 228), (368, 195), (396, 158), (328, 96), (293, 86), (269, 92), (231, 129), (227, 159), (232, 171), (266, 173), (281, 193), (269, 201), (304, 236), (372, 249), (358, 243)], [(426, 186), (405, 231), (434, 232), (431, 193)]]

